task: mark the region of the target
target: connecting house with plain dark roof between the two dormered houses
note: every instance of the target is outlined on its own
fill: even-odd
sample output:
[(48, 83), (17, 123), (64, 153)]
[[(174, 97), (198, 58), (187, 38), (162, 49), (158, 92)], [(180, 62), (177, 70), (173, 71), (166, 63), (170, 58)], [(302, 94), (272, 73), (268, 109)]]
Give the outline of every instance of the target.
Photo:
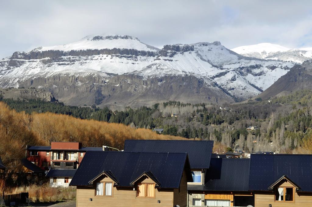
[(212, 158), (205, 184), (188, 185), (188, 205), (254, 206), (253, 193), (248, 189), (249, 164), (246, 158)]

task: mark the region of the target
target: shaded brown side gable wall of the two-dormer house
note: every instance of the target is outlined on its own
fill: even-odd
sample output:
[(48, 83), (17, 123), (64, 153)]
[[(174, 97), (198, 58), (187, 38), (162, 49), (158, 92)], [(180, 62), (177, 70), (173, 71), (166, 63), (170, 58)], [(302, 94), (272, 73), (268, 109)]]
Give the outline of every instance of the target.
[(185, 171), (183, 171), (183, 175), (180, 182), (180, 189), (173, 190), (173, 206), (179, 205), (180, 207), (187, 206), (187, 195), (188, 195), (188, 179), (186, 177)]

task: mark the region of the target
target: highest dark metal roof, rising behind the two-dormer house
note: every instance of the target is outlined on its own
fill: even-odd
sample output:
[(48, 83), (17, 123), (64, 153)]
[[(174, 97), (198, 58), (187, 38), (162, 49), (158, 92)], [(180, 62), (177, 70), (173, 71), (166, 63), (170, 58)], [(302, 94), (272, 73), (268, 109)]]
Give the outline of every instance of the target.
[(192, 169), (208, 169), (213, 141), (125, 140), (125, 152), (187, 152)]

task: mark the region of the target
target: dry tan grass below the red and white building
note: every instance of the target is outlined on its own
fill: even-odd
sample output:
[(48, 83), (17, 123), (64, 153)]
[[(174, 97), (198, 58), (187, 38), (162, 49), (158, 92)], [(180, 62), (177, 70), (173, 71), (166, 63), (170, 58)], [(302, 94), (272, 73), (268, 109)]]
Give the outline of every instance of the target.
[(51, 187), (46, 185), (30, 185), (24, 187), (17, 187), (10, 190), (6, 190), (5, 194), (19, 194), (22, 192), (28, 192), (29, 198), (32, 198), (33, 202), (55, 202), (62, 200), (73, 200), (76, 198), (76, 187)]

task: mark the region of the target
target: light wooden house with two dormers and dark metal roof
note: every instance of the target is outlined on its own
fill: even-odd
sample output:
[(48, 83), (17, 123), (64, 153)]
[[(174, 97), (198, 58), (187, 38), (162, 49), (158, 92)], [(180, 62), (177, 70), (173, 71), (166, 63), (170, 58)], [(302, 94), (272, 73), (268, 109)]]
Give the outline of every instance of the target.
[(88, 151), (70, 185), (76, 207), (186, 207), (187, 153)]

